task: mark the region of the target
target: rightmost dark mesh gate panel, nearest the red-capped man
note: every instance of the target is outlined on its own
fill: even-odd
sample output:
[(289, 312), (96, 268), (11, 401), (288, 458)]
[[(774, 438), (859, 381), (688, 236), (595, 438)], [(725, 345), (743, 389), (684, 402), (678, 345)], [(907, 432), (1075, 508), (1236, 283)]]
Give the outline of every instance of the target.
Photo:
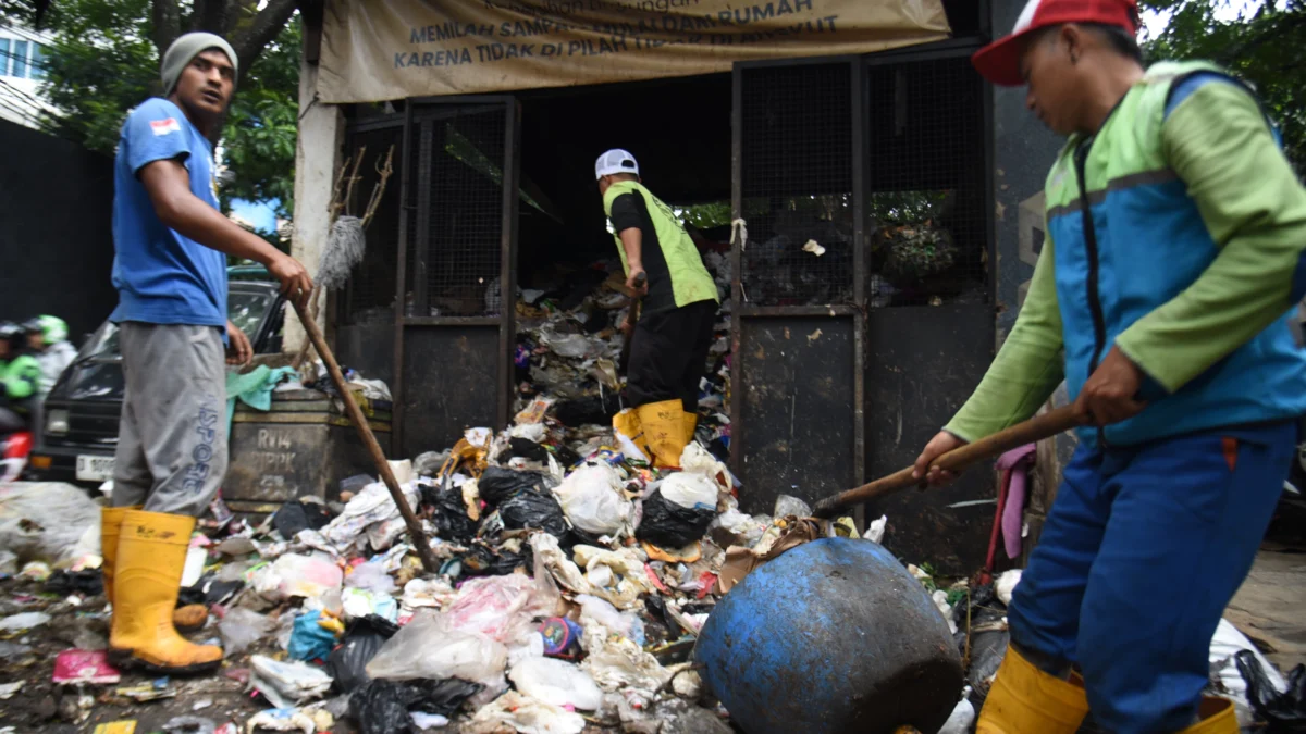
[(983, 86), (965, 56), (866, 69), (867, 304), (983, 304)]

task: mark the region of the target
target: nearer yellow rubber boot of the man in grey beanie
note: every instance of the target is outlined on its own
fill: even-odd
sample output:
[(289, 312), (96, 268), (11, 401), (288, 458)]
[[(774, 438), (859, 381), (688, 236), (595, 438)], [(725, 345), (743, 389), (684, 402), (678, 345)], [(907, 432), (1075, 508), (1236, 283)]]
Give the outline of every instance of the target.
[(222, 663), (222, 648), (195, 645), (172, 627), (185, 551), (195, 519), (183, 515), (125, 513), (114, 569), (114, 622), (110, 661), (153, 673), (206, 673)]

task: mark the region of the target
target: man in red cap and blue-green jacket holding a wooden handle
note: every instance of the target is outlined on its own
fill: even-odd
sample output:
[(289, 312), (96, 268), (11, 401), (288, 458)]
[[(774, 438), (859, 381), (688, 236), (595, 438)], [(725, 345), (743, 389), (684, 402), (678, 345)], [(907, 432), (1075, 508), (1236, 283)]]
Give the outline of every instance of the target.
[(1029, 295), (917, 460), (1027, 419), (1064, 379), (1085, 421), (1008, 620), (981, 734), (1235, 733), (1208, 649), (1275, 512), (1306, 353), (1306, 191), (1251, 90), (1144, 69), (1135, 0), (1029, 0), (974, 55), (1068, 137)]

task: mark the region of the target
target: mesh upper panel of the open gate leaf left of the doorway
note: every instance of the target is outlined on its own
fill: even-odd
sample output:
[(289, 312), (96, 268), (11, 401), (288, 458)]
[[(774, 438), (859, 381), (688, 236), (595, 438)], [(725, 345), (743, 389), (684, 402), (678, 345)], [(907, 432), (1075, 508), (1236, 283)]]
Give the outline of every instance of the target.
[(423, 120), (417, 206), (424, 226), (413, 248), (418, 298), (410, 315), (500, 312), (504, 135), (502, 106), (443, 110)]

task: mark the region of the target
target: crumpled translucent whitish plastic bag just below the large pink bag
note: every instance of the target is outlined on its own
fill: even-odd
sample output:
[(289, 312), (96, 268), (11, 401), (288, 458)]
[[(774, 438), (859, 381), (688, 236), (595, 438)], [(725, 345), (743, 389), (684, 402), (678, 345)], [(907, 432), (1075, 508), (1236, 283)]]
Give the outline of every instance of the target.
[(462, 678), (492, 688), (507, 663), (503, 643), (456, 630), (445, 615), (419, 610), (377, 650), (367, 663), (367, 675), (390, 680)]

